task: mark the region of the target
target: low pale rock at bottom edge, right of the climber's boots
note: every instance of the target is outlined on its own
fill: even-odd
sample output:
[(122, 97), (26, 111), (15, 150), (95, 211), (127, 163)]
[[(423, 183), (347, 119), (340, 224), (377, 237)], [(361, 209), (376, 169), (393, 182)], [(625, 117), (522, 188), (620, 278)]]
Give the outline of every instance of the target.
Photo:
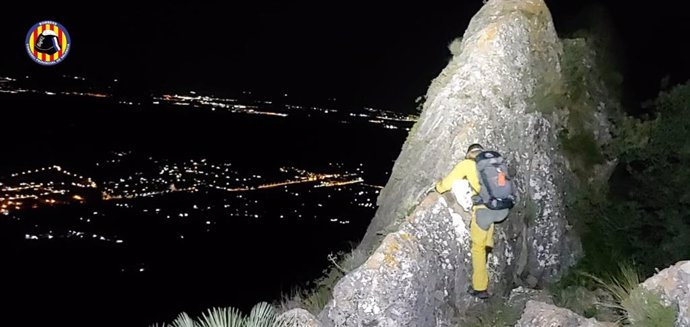
[(616, 324), (586, 319), (568, 309), (538, 301), (528, 301), (515, 327), (613, 327)]

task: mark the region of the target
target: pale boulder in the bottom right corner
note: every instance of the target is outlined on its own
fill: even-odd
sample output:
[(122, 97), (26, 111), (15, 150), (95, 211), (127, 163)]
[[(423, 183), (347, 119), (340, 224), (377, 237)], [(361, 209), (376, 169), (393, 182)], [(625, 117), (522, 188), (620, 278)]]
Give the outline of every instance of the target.
[(690, 327), (690, 261), (681, 261), (642, 283), (647, 290), (658, 292), (665, 306), (678, 310), (675, 326)]

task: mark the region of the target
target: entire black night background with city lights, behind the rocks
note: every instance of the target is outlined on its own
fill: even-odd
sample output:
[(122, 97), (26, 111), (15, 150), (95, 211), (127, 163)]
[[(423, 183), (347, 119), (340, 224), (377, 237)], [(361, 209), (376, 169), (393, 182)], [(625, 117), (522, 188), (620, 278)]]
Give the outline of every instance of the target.
[[(629, 113), (690, 78), (680, 2), (547, 5), (608, 33)], [(482, 1), (5, 6), (3, 319), (147, 326), (279, 301), (351, 250)], [(50, 67), (24, 49), (46, 19), (72, 38)]]

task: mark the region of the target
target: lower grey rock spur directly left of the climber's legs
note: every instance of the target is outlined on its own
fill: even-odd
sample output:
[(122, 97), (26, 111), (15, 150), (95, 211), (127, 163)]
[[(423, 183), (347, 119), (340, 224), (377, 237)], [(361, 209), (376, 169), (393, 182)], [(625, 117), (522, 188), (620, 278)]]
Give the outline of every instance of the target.
[[(359, 268), (320, 315), (325, 326), (443, 326), (466, 294), (469, 232), (462, 210), (432, 194)], [(460, 254), (460, 255), (458, 255)]]

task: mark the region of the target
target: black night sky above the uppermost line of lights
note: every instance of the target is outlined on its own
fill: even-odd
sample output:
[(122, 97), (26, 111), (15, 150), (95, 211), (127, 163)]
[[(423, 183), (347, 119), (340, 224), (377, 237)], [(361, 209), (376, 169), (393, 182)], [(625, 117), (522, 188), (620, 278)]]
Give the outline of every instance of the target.
[[(448, 43), (482, 5), (252, 3), (5, 10), (0, 72), (119, 78), (142, 89), (287, 92), (410, 111), (448, 62)], [(585, 3), (594, 1), (547, 1), (560, 33), (583, 27), (576, 17)], [(690, 78), (682, 50), (690, 14), (681, 2), (598, 3), (610, 11), (633, 102), (654, 97), (667, 74), (673, 83)], [(23, 48), (26, 31), (43, 19), (72, 37), (56, 67), (35, 64)]]

